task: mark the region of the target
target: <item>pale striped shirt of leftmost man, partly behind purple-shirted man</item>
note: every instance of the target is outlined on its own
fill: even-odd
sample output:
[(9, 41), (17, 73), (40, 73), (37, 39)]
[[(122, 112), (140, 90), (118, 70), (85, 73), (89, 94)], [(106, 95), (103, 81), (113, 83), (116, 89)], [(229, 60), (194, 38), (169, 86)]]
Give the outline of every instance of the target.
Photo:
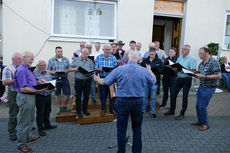
[[(2, 81), (13, 80), (14, 73), (16, 71), (16, 65), (10, 64), (2, 71)], [(7, 85), (7, 88), (12, 91), (17, 91), (14, 85)]]

